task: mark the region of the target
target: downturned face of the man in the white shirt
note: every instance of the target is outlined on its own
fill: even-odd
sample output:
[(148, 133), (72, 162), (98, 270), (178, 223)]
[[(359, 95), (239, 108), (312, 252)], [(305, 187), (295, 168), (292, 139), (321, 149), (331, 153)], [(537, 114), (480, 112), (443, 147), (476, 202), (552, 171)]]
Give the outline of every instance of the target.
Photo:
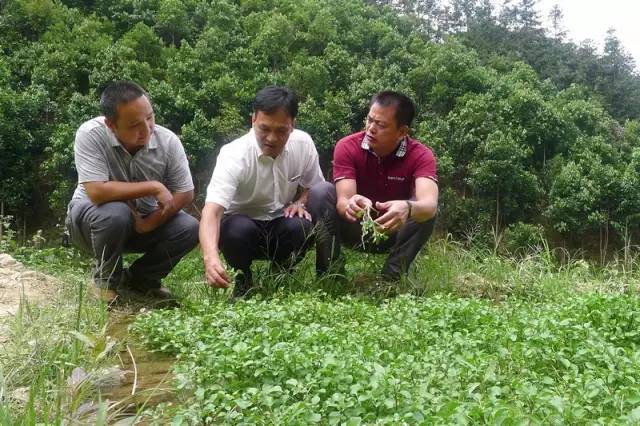
[(253, 114), (251, 122), (262, 153), (276, 158), (284, 150), (295, 120), (284, 108), (280, 108), (272, 114), (258, 111)]

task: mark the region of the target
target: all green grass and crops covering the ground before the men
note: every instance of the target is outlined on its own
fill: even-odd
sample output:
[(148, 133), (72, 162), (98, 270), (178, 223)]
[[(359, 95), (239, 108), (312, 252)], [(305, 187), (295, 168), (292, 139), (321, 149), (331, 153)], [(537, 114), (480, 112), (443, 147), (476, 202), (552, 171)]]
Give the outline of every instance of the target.
[[(349, 252), (346, 277), (318, 282), (313, 253), (292, 275), (257, 265), (259, 292), (227, 303), (197, 252), (166, 283), (180, 309), (138, 315), (131, 334), (171, 354), (175, 400), (152, 423), (433, 424), (640, 421), (640, 302), (633, 262), (559, 264), (544, 247), (508, 258), (449, 240), (408, 279), (377, 280), (382, 258)], [(92, 423), (119, 406), (72, 371), (113, 362), (109, 314), (86, 297), (88, 262), (22, 250), (63, 278), (60, 300), (25, 307), (0, 351), (0, 422), (61, 423), (88, 400)], [(23, 397), (16, 394), (22, 391)], [(142, 411), (141, 410), (141, 411)]]

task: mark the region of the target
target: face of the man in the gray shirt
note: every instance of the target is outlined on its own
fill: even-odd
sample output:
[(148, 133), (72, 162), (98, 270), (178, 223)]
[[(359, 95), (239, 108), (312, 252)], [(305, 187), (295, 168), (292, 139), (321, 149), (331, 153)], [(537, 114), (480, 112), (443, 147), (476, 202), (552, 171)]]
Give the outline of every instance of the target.
[(140, 96), (131, 102), (119, 104), (118, 116), (115, 121), (106, 119), (105, 122), (124, 148), (135, 154), (149, 143), (155, 116), (153, 107), (146, 96)]

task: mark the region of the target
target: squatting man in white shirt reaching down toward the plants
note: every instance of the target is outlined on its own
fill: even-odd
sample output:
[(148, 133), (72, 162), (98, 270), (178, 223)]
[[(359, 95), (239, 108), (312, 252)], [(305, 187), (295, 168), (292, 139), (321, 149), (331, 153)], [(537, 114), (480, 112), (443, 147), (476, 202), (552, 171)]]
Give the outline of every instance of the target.
[(284, 268), (299, 261), (309, 246), (308, 190), (324, 182), (311, 137), (294, 128), (295, 93), (269, 86), (255, 97), (249, 133), (222, 147), (207, 188), (200, 221), (207, 281), (227, 288), (228, 271), (240, 273), (233, 297), (252, 288), (251, 263), (268, 259)]

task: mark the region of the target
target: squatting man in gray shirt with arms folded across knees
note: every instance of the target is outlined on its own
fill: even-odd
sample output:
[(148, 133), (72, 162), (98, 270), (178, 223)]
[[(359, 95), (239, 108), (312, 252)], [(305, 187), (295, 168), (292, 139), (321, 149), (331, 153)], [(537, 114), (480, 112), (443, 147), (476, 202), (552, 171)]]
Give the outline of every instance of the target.
[[(104, 116), (80, 126), (74, 144), (78, 187), (67, 229), (96, 260), (97, 295), (110, 303), (119, 285), (170, 298), (160, 280), (198, 244), (189, 164), (178, 137), (157, 126), (146, 92), (130, 81), (102, 93)], [(122, 254), (144, 253), (123, 269)]]

